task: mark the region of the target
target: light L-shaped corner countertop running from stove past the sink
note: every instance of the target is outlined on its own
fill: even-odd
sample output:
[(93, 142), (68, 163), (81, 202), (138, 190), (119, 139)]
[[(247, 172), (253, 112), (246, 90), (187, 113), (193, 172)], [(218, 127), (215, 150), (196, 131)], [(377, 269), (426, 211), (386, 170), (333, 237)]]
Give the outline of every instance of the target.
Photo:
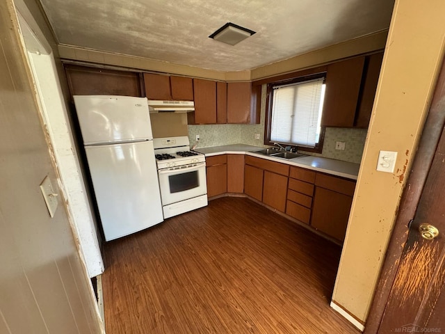
[(218, 154), (247, 154), (252, 157), (259, 157), (262, 159), (281, 162), (282, 164), (289, 164), (291, 166), (298, 166), (301, 168), (316, 170), (322, 173), (327, 173), (340, 177), (346, 177), (351, 180), (357, 180), (357, 175), (359, 173), (359, 168), (360, 168), (359, 164), (354, 164), (352, 162), (347, 162), (347, 161), (323, 158), (323, 157), (314, 157), (312, 155), (307, 155), (305, 157), (298, 157), (294, 159), (284, 159), (284, 158), (270, 157), (268, 155), (254, 152), (263, 149), (264, 147), (260, 146), (233, 144), (233, 145), (212, 146), (209, 148), (196, 148), (195, 151), (204, 154), (206, 157), (211, 157), (213, 155), (218, 155)]

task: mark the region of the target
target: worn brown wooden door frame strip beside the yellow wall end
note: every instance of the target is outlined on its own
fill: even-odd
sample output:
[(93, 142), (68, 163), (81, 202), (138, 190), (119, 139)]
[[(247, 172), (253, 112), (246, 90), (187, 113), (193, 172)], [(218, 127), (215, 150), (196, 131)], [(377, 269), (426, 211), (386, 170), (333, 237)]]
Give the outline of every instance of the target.
[(405, 185), (401, 198), (394, 230), (389, 240), (385, 262), (380, 271), (377, 288), (375, 289), (369, 317), (366, 320), (364, 333), (378, 333), (391, 287), (396, 278), (398, 264), (401, 262), (403, 248), (410, 232), (409, 223), (416, 214), (417, 206), (425, 186), (432, 160), (435, 157), (442, 130), (445, 125), (445, 58), (439, 72), (435, 91), (423, 133), (419, 140), (416, 156), (414, 157), (411, 173)]

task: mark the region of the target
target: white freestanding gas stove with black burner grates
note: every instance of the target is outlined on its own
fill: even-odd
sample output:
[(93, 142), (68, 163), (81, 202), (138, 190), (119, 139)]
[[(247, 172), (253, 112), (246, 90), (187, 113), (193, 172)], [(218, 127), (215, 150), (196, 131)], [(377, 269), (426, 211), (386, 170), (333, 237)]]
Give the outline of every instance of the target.
[(154, 138), (164, 218), (207, 205), (206, 159), (187, 136)]

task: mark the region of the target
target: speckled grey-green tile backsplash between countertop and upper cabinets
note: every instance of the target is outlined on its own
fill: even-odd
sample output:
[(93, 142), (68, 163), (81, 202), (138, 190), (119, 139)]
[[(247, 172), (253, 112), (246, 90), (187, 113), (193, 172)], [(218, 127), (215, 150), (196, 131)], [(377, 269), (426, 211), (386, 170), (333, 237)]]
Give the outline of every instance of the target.
[[(266, 85), (263, 85), (261, 92), (260, 124), (188, 125), (188, 138), (190, 139), (191, 145), (193, 145), (196, 141), (196, 135), (199, 134), (200, 141), (197, 143), (198, 148), (238, 143), (264, 146), (265, 115)], [(366, 129), (327, 127), (322, 154), (309, 154), (359, 164), (362, 160), (366, 133)], [(255, 134), (259, 134), (259, 139), (255, 139)], [(345, 150), (335, 150), (337, 141), (346, 143)], [(306, 152), (303, 153), (306, 154)]]

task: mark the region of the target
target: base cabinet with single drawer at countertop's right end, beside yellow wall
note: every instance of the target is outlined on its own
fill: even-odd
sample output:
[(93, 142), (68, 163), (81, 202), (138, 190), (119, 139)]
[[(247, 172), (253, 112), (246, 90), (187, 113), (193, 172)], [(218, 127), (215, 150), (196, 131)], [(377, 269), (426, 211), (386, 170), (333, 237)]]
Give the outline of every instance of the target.
[(355, 182), (317, 173), (315, 184), (311, 225), (330, 237), (343, 241)]

